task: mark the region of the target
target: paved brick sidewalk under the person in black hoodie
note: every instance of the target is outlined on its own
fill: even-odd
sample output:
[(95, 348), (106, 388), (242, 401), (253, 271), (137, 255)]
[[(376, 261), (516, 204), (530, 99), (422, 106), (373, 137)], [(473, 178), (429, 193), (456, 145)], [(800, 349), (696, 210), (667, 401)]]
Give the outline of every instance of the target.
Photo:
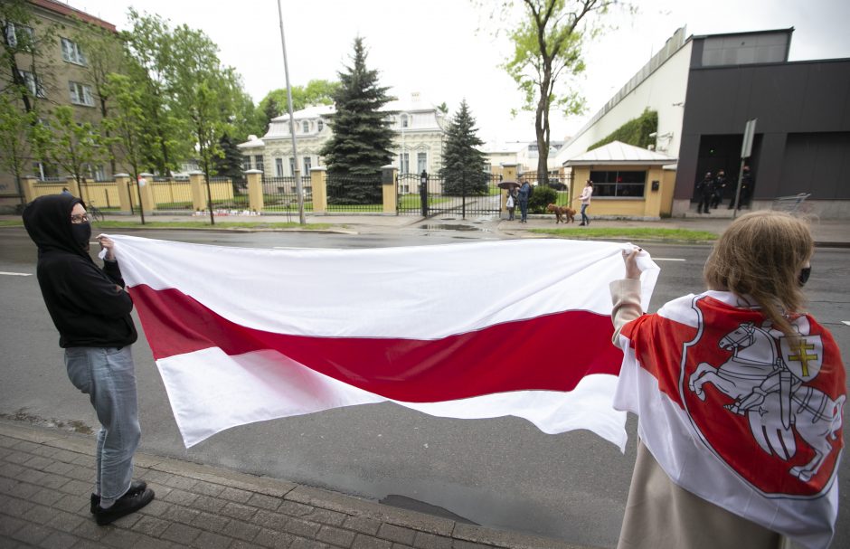
[(145, 453), (136, 478), (156, 499), (98, 526), (93, 449), (91, 436), (0, 421), (0, 547), (582, 549)]

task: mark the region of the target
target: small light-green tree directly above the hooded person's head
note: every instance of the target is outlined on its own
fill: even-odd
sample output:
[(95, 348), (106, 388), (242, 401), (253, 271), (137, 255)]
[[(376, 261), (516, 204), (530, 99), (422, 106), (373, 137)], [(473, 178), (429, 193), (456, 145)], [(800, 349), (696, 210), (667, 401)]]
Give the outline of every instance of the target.
[[(106, 156), (103, 138), (90, 122), (78, 121), (74, 109), (61, 105), (53, 109), (44, 155), (71, 174), (80, 185), (90, 168)], [(80, 187), (82, 192), (82, 187)], [(85, 196), (81, 196), (85, 199)]]

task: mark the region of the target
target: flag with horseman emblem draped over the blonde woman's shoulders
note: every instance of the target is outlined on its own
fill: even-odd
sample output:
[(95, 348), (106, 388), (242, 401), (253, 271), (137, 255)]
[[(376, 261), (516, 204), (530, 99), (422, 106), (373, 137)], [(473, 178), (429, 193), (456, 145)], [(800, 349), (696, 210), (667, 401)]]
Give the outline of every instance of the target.
[(814, 318), (792, 324), (796, 342), (730, 292), (675, 299), (623, 327), (615, 407), (638, 414), (641, 440), (676, 485), (826, 547), (838, 506), (844, 364)]

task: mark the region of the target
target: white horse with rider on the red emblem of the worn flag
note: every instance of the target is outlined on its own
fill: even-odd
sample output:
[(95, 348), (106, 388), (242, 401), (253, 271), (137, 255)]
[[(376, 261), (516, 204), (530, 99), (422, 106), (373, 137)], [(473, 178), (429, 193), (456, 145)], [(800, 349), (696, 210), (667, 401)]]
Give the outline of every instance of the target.
[(789, 473), (808, 481), (833, 450), (830, 440), (836, 440), (841, 429), (846, 396), (842, 394), (834, 401), (826, 393), (803, 384), (784, 364), (770, 332), (752, 322), (723, 336), (718, 345), (732, 351), (732, 356), (716, 368), (700, 363), (688, 378), (688, 388), (704, 401), (703, 386), (712, 383), (735, 399), (725, 408), (746, 414), (752, 436), (761, 449), (788, 461), (797, 453), (797, 442), (794, 432), (783, 425), (785, 409), (794, 431), (815, 452), (806, 465), (792, 467)]

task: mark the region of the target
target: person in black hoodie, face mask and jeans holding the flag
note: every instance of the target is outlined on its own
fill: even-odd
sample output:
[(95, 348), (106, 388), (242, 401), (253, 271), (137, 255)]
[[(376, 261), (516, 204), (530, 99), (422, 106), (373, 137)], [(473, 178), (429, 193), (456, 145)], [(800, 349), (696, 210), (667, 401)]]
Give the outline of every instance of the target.
[(98, 414), (95, 492), (90, 510), (99, 525), (146, 506), (154, 492), (134, 481), (138, 424), (136, 373), (130, 345), (136, 326), (133, 301), (105, 235), (103, 269), (89, 255), (91, 225), (85, 205), (71, 194), (41, 196), (24, 209), (24, 227), (38, 246), (42, 298), (59, 330), (68, 377), (89, 395)]

